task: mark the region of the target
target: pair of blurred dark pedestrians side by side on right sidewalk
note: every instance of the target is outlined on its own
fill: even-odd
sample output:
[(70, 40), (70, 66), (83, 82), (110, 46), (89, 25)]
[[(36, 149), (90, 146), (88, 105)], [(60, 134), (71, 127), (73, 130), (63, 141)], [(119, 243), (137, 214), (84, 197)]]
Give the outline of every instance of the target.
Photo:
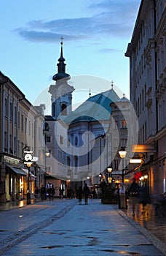
[(142, 203), (143, 211), (145, 211), (146, 204), (151, 203), (149, 187), (140, 187), (135, 181), (135, 178), (133, 178), (133, 183), (128, 190), (128, 195), (131, 197), (132, 200), (133, 216), (135, 216), (135, 207), (138, 203)]

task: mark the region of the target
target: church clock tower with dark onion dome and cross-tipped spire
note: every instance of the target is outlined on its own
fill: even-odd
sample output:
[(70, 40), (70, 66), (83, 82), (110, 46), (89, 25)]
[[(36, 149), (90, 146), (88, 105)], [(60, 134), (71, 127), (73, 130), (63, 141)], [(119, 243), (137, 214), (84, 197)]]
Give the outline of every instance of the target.
[(55, 85), (51, 85), (49, 92), (52, 94), (52, 118), (64, 119), (71, 113), (72, 92), (74, 87), (68, 84), (70, 75), (66, 73), (65, 59), (63, 58), (63, 37), (61, 37), (60, 59), (58, 59), (58, 73), (53, 75)]

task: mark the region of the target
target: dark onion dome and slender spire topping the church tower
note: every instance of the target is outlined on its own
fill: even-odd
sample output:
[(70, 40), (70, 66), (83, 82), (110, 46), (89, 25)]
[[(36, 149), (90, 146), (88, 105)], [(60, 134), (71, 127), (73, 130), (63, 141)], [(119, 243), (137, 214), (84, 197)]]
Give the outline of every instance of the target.
[(59, 63), (58, 66), (58, 73), (53, 75), (52, 80), (58, 81), (60, 79), (69, 80), (71, 77), (66, 73), (66, 64), (64, 63), (65, 59), (63, 58), (63, 37), (60, 38), (61, 42), (61, 51), (60, 51), (60, 59), (58, 59)]

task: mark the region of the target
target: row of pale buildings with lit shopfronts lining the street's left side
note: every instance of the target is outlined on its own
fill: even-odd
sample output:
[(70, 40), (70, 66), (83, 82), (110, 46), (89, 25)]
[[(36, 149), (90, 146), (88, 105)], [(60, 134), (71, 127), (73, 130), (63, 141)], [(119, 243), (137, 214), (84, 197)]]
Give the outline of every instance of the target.
[[(25, 198), (26, 174), (16, 173), (12, 167), (17, 167), (18, 170), (25, 167), (23, 159), (25, 146), (31, 147), (33, 156), (38, 157), (43, 146), (44, 109), (43, 105), (40, 111), (39, 108), (33, 107), (25, 99), (23, 92), (1, 72), (0, 99), (0, 202), (5, 203), (6, 200)], [(31, 171), (37, 175), (34, 184), (39, 187), (38, 164), (42, 165), (40, 159), (39, 162), (33, 163)], [(21, 184), (21, 180), (24, 185)]]

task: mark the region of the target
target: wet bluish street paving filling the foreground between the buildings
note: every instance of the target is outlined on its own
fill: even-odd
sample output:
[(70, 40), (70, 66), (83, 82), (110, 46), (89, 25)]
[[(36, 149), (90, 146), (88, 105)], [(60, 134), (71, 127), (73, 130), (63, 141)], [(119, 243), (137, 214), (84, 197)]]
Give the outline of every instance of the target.
[(166, 255), (165, 244), (144, 228), (146, 218), (130, 216), (130, 202), (124, 211), (100, 200), (18, 206), (0, 211), (0, 255)]

